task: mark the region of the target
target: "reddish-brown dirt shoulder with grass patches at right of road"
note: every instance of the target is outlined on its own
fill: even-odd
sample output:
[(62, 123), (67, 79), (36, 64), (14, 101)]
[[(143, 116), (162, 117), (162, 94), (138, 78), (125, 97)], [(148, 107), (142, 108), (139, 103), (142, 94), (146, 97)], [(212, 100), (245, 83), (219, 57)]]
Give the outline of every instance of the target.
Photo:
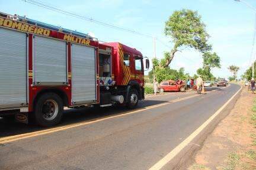
[(194, 155), (188, 169), (256, 169), (256, 94), (244, 88), (231, 113)]

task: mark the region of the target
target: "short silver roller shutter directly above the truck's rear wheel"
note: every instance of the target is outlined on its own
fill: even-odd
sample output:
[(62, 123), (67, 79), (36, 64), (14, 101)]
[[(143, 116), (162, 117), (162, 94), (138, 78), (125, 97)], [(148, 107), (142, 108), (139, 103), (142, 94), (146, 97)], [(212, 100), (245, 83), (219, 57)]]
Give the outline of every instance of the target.
[(34, 37), (34, 81), (63, 84), (67, 79), (66, 42)]

